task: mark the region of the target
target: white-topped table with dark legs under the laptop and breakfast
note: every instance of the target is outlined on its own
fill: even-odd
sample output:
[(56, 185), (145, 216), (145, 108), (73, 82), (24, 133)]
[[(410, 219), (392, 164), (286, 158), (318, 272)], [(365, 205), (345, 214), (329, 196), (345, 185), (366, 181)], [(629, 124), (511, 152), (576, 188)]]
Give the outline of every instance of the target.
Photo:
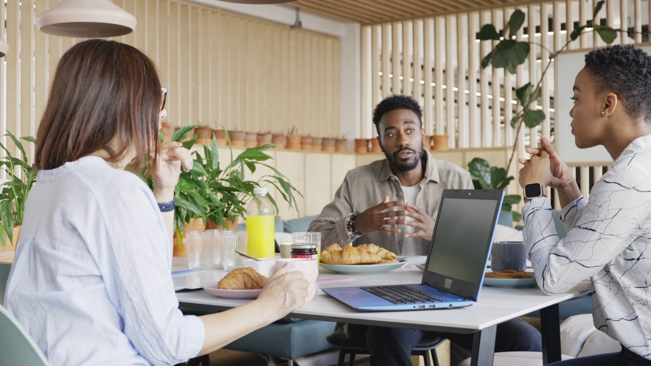
[[(174, 259), (174, 270), (182, 268), (182, 259)], [(409, 262), (424, 262), (424, 257), (413, 257)], [(187, 267), (186, 267), (187, 268)], [(393, 285), (419, 283), (422, 271), (418, 268), (398, 268), (386, 274), (342, 275), (320, 268), (319, 279), (354, 277), (355, 281), (327, 283), (321, 287)], [(546, 296), (537, 287), (527, 289), (482, 288), (479, 301), (469, 307), (423, 311), (391, 311), (362, 313), (331, 298), (324, 292), (311, 302), (293, 311), (290, 316), (333, 322), (347, 322), (396, 328), (413, 328), (453, 333), (473, 333), (472, 366), (492, 366), (497, 324), (540, 310), (542, 324), (543, 361), (551, 363), (561, 360), (561, 339), (559, 330), (558, 303), (577, 298), (590, 291), (589, 281), (557, 296)], [(177, 294), (184, 308), (203, 311), (223, 311), (248, 300), (218, 298), (201, 290)]]

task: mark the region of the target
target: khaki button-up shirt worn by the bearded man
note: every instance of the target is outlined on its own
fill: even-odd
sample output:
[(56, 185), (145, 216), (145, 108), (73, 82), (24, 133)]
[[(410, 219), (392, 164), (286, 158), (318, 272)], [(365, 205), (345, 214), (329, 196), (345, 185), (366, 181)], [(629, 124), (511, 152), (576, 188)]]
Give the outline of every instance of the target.
[[(427, 150), (425, 155), (425, 174), (419, 182), (421, 189), (416, 196), (416, 206), (436, 219), (443, 190), (471, 190), (473, 182), (470, 173), (465, 169), (443, 160), (436, 160)], [(353, 241), (346, 229), (348, 214), (358, 214), (382, 203), (385, 195), (389, 196), (390, 201), (397, 201), (404, 197), (400, 180), (393, 175), (386, 159), (352, 169), (348, 171), (344, 182), (335, 193), (334, 201), (312, 221), (309, 231), (322, 232), (322, 248), (333, 243), (346, 246)], [(403, 253), (398, 235), (400, 234), (389, 232), (365, 234), (355, 239), (354, 245), (373, 243), (398, 255), (428, 253), (430, 241), (422, 238), (415, 238), (419, 241), (415, 246), (416, 253)]]

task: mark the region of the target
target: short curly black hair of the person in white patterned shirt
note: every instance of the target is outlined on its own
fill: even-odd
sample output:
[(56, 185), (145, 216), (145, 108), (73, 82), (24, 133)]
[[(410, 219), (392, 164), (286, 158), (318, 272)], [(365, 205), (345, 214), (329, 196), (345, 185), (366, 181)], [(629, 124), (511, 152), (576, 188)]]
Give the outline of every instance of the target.
[(594, 49), (585, 55), (596, 92), (614, 92), (633, 119), (651, 119), (651, 57), (631, 45)]

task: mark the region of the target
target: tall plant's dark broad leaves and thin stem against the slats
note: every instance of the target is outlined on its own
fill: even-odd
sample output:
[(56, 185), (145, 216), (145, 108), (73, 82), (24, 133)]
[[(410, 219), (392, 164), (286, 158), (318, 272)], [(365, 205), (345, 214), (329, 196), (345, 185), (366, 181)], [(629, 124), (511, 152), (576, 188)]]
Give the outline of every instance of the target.
[[(574, 42), (574, 40), (579, 38), (583, 31), (596, 31), (602, 38), (603, 42), (606, 44), (613, 43), (617, 36), (617, 32), (622, 30), (615, 30), (611, 27), (608, 27), (607, 25), (601, 25), (598, 21), (595, 21), (595, 18), (602, 9), (604, 2), (605, 1), (602, 0), (597, 3), (596, 7), (594, 7), (594, 11), (592, 12), (592, 20), (587, 21), (585, 25), (576, 27), (570, 35), (570, 40), (568, 40), (568, 42), (564, 44), (561, 49), (556, 52), (549, 52), (550, 60), (555, 59), (555, 57), (557, 57), (559, 53), (567, 48), (571, 42)], [(504, 26), (503, 35), (500, 35), (495, 29), (495, 26), (492, 24), (486, 24), (482, 27), (481, 31), (479, 31), (477, 34), (478, 40), (499, 41), (495, 48), (490, 51), (490, 53), (488, 53), (484, 59), (482, 59), (482, 68), (486, 68), (489, 64), (492, 64), (494, 68), (504, 68), (506, 71), (510, 72), (510, 74), (515, 74), (516, 66), (523, 64), (529, 56), (530, 42), (519, 42), (515, 39), (516, 33), (520, 27), (522, 27), (524, 21), (524, 12), (522, 12), (522, 10), (516, 9), (513, 14), (511, 14), (508, 23), (506, 23)], [(531, 44), (535, 43), (531, 42)], [(542, 45), (540, 46), (542, 47)], [(542, 74), (540, 74), (540, 80), (538, 83), (536, 83), (535, 87), (531, 82), (529, 82), (516, 90), (516, 97), (518, 98), (522, 109), (514, 115), (510, 122), (512, 128), (516, 128), (517, 126), (516, 135), (514, 137), (515, 141), (518, 140), (522, 124), (528, 128), (534, 128), (536, 126), (540, 126), (540, 124), (542, 124), (542, 122), (545, 120), (545, 113), (538, 109), (531, 109), (531, 104), (540, 98), (542, 80), (544, 79), (547, 70), (549, 70), (550, 65), (551, 62), (547, 63), (547, 66), (542, 71)], [(511, 166), (515, 152), (516, 144), (514, 143), (513, 151), (508, 160), (506, 169), (509, 169)]]

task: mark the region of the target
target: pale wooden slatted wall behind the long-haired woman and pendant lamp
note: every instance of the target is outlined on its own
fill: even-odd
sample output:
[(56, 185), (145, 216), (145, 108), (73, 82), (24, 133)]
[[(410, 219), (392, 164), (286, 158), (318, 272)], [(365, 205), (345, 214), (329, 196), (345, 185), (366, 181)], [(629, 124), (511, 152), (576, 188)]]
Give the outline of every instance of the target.
[[(83, 40), (38, 31), (36, 15), (58, 2), (0, 1), (1, 131), (36, 134), (59, 59)], [(173, 126), (339, 134), (339, 38), (178, 0), (114, 2), (138, 21), (116, 40), (158, 65)]]

